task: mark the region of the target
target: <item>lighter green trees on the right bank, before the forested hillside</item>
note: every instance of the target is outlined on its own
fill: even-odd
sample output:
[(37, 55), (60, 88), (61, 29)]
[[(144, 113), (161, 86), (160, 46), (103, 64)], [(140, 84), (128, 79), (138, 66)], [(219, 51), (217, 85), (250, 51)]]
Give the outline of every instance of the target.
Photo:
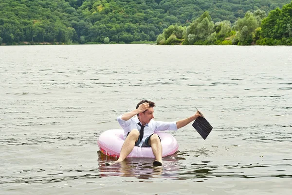
[(234, 24), (214, 22), (204, 12), (189, 26), (170, 25), (157, 37), (158, 45), (292, 45), (292, 2), (272, 10), (248, 11)]

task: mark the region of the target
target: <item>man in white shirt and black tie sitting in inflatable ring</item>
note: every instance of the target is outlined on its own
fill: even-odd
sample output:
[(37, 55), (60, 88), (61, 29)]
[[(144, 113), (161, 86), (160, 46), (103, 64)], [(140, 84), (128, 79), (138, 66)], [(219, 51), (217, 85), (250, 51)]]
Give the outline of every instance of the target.
[[(162, 145), (159, 136), (155, 132), (177, 130), (201, 116), (197, 111), (195, 115), (177, 122), (154, 121), (152, 120), (154, 118), (154, 107), (154, 102), (142, 100), (137, 104), (136, 109), (117, 118), (117, 121), (124, 129), (125, 142), (122, 146), (119, 159), (114, 163), (122, 162), (133, 150), (134, 146), (140, 146), (151, 147), (156, 158), (153, 166), (161, 166)], [(135, 115), (137, 117), (133, 117)], [(106, 165), (110, 165), (110, 163), (106, 163)]]

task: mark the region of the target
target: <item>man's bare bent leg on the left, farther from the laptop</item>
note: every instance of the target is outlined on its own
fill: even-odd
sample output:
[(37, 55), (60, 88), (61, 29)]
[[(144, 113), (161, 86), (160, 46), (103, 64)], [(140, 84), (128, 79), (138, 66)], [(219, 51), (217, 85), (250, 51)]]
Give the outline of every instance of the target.
[[(126, 159), (128, 154), (130, 154), (130, 152), (133, 150), (135, 143), (139, 139), (139, 136), (140, 136), (140, 133), (137, 129), (133, 129), (130, 131), (130, 133), (128, 134), (122, 146), (119, 159), (114, 161), (113, 163), (119, 163)], [(106, 163), (106, 165), (110, 165), (110, 163)]]

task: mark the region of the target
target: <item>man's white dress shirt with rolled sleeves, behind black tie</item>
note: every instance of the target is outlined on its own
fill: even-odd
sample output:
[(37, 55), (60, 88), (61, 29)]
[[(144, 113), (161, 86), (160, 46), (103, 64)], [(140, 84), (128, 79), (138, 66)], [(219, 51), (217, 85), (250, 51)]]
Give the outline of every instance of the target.
[[(141, 126), (138, 124), (140, 123), (138, 117), (132, 117), (128, 121), (124, 121), (122, 119), (122, 115), (117, 118), (117, 121), (124, 129), (124, 140), (127, 138), (128, 132), (133, 129), (138, 129), (140, 131)], [(143, 139), (140, 141), (139, 146), (145, 142), (146, 138), (152, 135), (157, 131), (165, 131), (165, 130), (178, 130), (176, 122), (161, 122), (161, 121), (154, 121), (153, 119), (150, 123), (145, 125), (144, 128), (144, 136)]]

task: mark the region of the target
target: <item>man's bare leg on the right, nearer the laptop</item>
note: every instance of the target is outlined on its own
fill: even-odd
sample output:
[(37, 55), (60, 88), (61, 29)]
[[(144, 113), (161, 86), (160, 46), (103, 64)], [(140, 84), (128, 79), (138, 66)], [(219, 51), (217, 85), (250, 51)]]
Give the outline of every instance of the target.
[(151, 146), (153, 154), (156, 158), (156, 160), (153, 162), (153, 165), (154, 166), (161, 166), (162, 165), (162, 145), (161, 145), (161, 142), (160, 142), (158, 135), (153, 134), (150, 137), (148, 143)]

